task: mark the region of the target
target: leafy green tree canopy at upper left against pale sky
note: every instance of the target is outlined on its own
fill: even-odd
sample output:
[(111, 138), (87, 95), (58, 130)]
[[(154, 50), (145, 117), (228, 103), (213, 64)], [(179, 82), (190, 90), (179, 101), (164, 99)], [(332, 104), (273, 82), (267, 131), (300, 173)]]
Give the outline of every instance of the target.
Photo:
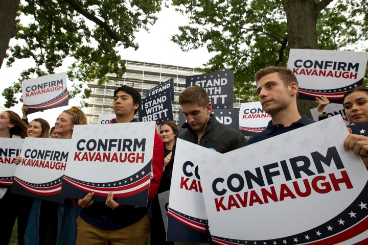
[[(67, 72), (68, 79), (74, 81), (70, 97), (80, 92), (88, 97), (89, 89), (83, 91), (83, 82), (98, 79), (103, 84), (108, 80), (108, 73), (121, 78), (125, 65), (119, 48), (136, 50), (139, 47), (134, 42), (134, 32), (141, 28), (148, 30), (148, 25), (156, 21), (162, 3), (160, 0), (53, 0), (47, 3), (22, 0), (20, 4), (12, 1), (0, 4), (3, 8), (18, 7), (16, 31), (10, 29), (15, 36), (9, 37), (14, 36), (18, 41), (9, 47), (7, 65), (11, 66), (17, 59), (32, 58), (34, 66), (25, 67), (19, 81), (3, 91), (6, 107), (17, 103), (14, 94), (20, 91), (21, 81), (34, 74), (55, 73), (55, 68), (60, 67), (66, 57), (75, 61)], [(0, 22), (14, 21), (10, 11), (4, 11), (1, 18)], [(0, 58), (2, 62), (4, 57)]]

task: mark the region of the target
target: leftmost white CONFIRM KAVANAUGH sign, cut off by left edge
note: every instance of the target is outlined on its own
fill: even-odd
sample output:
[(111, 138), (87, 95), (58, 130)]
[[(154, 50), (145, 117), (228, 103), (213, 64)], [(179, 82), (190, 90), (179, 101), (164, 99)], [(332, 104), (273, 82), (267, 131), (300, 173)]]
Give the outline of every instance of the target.
[(10, 187), (15, 174), (15, 158), (20, 155), (24, 139), (2, 138), (0, 140), (0, 187)]

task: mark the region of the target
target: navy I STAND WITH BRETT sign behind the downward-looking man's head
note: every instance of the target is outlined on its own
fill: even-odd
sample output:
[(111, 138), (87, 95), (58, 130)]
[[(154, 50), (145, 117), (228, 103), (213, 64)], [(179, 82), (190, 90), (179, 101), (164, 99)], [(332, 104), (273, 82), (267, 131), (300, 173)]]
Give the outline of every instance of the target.
[(186, 78), (186, 87), (200, 86), (209, 94), (213, 109), (233, 109), (234, 71), (212, 72)]

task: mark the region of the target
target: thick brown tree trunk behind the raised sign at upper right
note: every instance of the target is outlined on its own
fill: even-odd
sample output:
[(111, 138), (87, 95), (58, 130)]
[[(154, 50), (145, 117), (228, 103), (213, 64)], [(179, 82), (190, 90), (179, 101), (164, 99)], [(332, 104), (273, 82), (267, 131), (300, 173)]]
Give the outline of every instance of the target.
[[(289, 48), (318, 49), (316, 25), (320, 9), (314, 2), (314, 0), (284, 0)], [(312, 118), (310, 109), (318, 104), (313, 101), (297, 100), (297, 105), (302, 115)]]

